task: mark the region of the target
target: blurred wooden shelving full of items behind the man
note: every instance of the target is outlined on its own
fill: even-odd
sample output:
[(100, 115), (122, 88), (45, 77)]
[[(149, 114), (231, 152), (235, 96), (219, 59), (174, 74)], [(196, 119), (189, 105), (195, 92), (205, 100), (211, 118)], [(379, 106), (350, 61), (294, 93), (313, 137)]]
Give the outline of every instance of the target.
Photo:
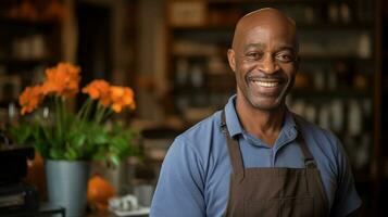
[[(238, 18), (277, 8), (297, 22), (301, 65), (287, 104), (341, 140), (365, 205), (372, 206), (378, 129), (375, 1), (171, 0), (167, 3), (167, 110), (187, 126), (222, 108), (235, 92), (226, 51)], [(378, 139), (377, 139), (378, 140)]]

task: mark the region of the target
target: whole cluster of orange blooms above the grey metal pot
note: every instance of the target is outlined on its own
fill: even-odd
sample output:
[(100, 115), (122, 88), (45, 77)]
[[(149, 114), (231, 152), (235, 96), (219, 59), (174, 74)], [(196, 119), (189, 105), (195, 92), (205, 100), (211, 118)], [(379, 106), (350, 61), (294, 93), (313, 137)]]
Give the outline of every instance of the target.
[[(22, 93), (22, 114), (35, 110), (46, 95), (53, 93), (64, 98), (74, 97), (79, 88), (79, 67), (68, 63), (59, 63), (55, 67), (46, 69), (45, 82), (41, 86), (28, 87)], [(128, 87), (111, 86), (103, 79), (96, 79), (83, 88), (83, 92), (93, 100), (99, 100), (103, 106), (111, 106), (116, 113), (124, 108), (136, 108), (134, 91)]]

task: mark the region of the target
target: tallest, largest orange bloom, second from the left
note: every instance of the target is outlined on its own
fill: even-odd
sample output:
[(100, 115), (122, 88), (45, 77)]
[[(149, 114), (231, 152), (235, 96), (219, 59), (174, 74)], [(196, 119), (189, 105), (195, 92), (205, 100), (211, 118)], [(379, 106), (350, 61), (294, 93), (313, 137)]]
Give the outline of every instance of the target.
[(59, 63), (57, 67), (46, 71), (46, 82), (42, 85), (43, 94), (57, 93), (65, 98), (74, 97), (78, 92), (79, 67)]

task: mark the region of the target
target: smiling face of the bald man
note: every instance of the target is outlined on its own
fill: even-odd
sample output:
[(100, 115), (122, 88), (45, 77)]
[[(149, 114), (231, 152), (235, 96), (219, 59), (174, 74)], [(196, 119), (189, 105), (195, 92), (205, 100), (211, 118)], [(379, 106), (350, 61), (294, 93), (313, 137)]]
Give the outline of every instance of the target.
[(228, 51), (236, 73), (237, 95), (259, 110), (276, 110), (293, 86), (298, 68), (295, 33), (274, 25), (256, 25)]

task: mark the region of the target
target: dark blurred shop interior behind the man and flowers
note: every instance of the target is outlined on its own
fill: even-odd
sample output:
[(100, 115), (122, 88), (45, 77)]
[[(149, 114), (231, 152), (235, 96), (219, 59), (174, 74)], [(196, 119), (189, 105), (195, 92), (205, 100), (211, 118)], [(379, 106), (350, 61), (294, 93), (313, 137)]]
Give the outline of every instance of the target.
[(264, 7), (298, 25), (302, 62), (289, 107), (340, 138), (363, 213), (387, 216), (385, 0), (2, 0), (0, 126), (17, 122), (20, 93), (46, 67), (77, 64), (82, 86), (103, 78), (135, 90), (136, 112), (117, 118), (139, 130), (145, 163), (128, 159), (113, 182), (154, 187), (174, 137), (234, 93), (226, 51), (235, 24)]

